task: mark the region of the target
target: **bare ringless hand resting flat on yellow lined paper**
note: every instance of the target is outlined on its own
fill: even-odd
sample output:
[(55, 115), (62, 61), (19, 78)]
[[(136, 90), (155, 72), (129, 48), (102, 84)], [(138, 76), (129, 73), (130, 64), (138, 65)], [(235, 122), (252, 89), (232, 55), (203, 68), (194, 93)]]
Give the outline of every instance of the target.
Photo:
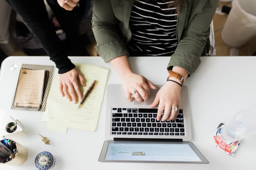
[(77, 102), (76, 94), (79, 99), (82, 98), (82, 94), (80, 92), (78, 81), (81, 85), (85, 85), (83, 76), (76, 70), (72, 69), (69, 72), (59, 74), (59, 91), (62, 96), (66, 96), (66, 98), (74, 103)]

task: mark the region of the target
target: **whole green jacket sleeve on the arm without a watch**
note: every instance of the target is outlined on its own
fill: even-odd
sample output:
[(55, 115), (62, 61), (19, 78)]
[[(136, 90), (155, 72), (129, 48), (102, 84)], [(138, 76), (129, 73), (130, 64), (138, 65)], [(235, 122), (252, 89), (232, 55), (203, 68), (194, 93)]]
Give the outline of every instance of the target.
[(93, 2), (92, 31), (97, 42), (95, 48), (105, 62), (128, 55), (126, 45), (118, 34), (118, 23), (110, 0)]

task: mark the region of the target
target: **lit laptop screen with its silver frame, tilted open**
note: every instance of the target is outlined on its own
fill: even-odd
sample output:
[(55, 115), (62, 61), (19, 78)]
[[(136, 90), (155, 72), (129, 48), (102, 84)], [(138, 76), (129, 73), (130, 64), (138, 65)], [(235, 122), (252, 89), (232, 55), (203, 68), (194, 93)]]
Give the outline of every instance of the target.
[(101, 162), (209, 163), (191, 142), (105, 141)]

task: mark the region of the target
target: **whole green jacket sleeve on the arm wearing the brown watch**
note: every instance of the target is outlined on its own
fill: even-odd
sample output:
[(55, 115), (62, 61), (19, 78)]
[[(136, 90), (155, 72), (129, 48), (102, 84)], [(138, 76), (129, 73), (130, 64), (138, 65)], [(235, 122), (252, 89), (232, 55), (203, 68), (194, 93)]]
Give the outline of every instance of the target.
[[(197, 3), (197, 1), (194, 1)], [(200, 56), (210, 35), (210, 24), (216, 11), (218, 0), (208, 0), (205, 4), (210, 9), (197, 11), (192, 6), (190, 19), (187, 27), (183, 30), (179, 44), (171, 56), (168, 69), (172, 66), (184, 68), (189, 75), (196, 71), (200, 64)], [(191, 18), (191, 17), (190, 17)]]

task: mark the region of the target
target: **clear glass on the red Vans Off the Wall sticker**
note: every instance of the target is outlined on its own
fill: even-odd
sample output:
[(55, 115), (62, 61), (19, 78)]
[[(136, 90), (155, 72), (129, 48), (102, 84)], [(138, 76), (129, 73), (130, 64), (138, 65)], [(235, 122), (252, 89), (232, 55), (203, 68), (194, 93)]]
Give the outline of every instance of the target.
[(225, 141), (237, 141), (247, 136), (256, 135), (256, 113), (253, 111), (239, 111), (231, 123), (222, 128), (221, 137)]

